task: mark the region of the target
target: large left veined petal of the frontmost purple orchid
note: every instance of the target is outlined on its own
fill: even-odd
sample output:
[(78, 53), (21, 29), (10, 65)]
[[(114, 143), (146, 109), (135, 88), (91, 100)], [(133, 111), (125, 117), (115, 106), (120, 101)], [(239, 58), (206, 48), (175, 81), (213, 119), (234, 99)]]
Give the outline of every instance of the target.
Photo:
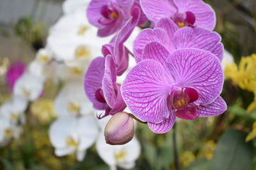
[(143, 122), (163, 122), (169, 117), (168, 93), (172, 77), (159, 62), (143, 60), (127, 74), (122, 96), (135, 117)]

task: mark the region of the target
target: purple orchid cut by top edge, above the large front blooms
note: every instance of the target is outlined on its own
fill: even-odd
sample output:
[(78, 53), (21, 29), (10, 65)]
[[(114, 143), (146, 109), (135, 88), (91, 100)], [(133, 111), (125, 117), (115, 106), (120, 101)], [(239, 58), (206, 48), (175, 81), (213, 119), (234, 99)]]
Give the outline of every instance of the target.
[(202, 0), (141, 0), (141, 8), (154, 23), (167, 17), (179, 27), (203, 27), (213, 30), (216, 24), (214, 10)]

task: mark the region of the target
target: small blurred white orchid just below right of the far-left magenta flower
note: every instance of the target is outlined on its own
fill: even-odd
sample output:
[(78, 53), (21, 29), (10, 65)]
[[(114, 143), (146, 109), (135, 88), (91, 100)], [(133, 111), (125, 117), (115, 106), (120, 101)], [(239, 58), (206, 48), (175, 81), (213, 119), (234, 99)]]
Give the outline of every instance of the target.
[(44, 88), (44, 80), (26, 71), (14, 85), (14, 95), (25, 97), (29, 101), (38, 99)]

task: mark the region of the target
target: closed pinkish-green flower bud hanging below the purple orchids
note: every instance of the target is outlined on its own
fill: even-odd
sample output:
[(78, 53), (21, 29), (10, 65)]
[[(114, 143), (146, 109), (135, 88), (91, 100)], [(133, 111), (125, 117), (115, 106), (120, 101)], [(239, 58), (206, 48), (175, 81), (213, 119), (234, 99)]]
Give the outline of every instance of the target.
[(104, 131), (106, 143), (124, 145), (134, 136), (133, 118), (126, 112), (118, 112), (110, 118)]

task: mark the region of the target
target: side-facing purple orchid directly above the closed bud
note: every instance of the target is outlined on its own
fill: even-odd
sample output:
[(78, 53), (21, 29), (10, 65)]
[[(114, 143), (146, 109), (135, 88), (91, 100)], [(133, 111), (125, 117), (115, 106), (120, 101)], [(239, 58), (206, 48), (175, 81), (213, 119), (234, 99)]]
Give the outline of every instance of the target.
[(126, 108), (120, 92), (120, 85), (116, 83), (116, 66), (111, 55), (106, 59), (97, 57), (92, 60), (84, 75), (84, 90), (93, 108), (105, 110), (103, 118), (114, 115)]

